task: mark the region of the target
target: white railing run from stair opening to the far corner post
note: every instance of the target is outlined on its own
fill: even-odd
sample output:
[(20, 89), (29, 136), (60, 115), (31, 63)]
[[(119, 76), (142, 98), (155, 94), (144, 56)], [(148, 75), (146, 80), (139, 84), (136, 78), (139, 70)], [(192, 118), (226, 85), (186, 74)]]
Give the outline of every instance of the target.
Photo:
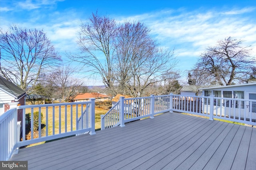
[(170, 110), (169, 98), (170, 95), (151, 95), (141, 98), (120, 97), (120, 100), (105, 115), (101, 115), (101, 129), (118, 125), (124, 127), (124, 123), (144, 117), (154, 118), (154, 115)]

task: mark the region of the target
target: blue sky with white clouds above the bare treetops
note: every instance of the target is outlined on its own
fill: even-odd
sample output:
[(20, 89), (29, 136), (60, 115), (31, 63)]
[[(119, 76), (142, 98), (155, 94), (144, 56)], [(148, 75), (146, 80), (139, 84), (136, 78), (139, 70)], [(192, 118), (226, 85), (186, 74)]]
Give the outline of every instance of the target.
[[(177, 69), (183, 71), (229, 36), (251, 45), (256, 58), (256, 0), (0, 0), (0, 27), (44, 29), (65, 59), (65, 51), (77, 52), (80, 21), (97, 10), (120, 22), (142, 21), (160, 46), (175, 48)], [(102, 85), (102, 80), (86, 82)]]

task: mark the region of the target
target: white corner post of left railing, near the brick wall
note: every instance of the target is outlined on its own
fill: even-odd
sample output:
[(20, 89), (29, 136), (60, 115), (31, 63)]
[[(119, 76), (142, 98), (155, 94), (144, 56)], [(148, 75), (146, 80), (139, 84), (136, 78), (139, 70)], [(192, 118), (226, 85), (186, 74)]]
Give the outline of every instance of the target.
[[(16, 108), (16, 114), (14, 115), (14, 143), (15, 143), (15, 149), (14, 151), (12, 152), (12, 154), (18, 154), (19, 152), (19, 148), (16, 146), (17, 145), (17, 142), (20, 141), (20, 121), (18, 122), (18, 109), (17, 109), (17, 106), (18, 106), (19, 102), (11, 102), (11, 103), (8, 103), (8, 105), (10, 106), (10, 109), (13, 109), (13, 108)], [(24, 122), (25, 123), (25, 122)]]

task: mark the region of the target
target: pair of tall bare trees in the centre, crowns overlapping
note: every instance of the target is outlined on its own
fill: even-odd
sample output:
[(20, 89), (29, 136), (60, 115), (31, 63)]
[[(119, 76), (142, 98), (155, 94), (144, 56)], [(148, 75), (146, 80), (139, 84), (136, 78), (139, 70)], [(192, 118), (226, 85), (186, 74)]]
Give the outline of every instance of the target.
[(78, 45), (84, 56), (70, 58), (93, 67), (113, 96), (143, 95), (174, 67), (173, 51), (160, 49), (143, 23), (117, 25), (106, 16), (92, 14), (89, 23), (80, 26)]

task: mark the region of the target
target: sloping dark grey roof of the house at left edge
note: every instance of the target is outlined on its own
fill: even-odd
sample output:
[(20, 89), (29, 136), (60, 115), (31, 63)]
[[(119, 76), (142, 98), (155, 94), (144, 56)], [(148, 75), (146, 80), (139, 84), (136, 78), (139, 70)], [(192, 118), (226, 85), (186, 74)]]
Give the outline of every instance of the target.
[(24, 96), (26, 92), (13, 84), (12, 82), (6, 80), (4, 77), (0, 76), (0, 90), (6, 92), (10, 96), (19, 99)]

